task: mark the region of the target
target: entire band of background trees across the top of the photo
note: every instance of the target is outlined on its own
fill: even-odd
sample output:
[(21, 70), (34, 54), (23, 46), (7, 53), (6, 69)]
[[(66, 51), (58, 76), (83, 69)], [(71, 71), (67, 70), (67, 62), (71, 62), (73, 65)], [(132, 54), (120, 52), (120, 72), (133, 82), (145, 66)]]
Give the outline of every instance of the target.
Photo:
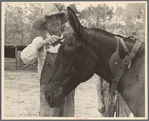
[[(60, 11), (66, 11), (62, 3), (54, 3)], [(79, 3), (70, 4), (81, 23), (89, 28), (101, 28), (113, 32), (116, 28), (125, 30), (128, 36), (136, 33), (136, 37), (144, 41), (145, 37), (145, 4), (128, 3), (125, 8), (113, 7), (107, 4), (88, 6), (82, 11), (77, 9)], [(85, 4), (85, 3), (84, 3)], [(32, 22), (42, 15), (43, 5), (41, 3), (20, 3), (13, 5), (5, 4), (5, 44), (28, 45), (41, 33), (31, 28)], [(62, 27), (62, 31), (69, 30), (68, 23)]]

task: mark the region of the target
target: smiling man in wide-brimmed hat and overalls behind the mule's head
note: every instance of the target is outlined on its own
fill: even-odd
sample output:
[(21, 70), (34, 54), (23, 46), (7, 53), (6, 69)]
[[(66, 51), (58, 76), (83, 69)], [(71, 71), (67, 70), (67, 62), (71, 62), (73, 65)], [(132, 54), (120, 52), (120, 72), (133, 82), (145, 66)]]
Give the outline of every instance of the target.
[[(53, 63), (58, 52), (59, 44), (52, 47), (52, 43), (62, 38), (61, 26), (67, 22), (65, 12), (59, 12), (58, 9), (51, 3), (46, 4), (43, 9), (43, 16), (37, 18), (32, 28), (37, 31), (45, 32), (46, 38), (36, 37), (33, 42), (28, 45), (21, 53), (21, 58), (26, 64), (31, 64), (38, 58), (38, 73), (46, 70), (47, 65), (44, 66), (46, 61), (47, 51), (50, 52), (50, 64)], [(49, 48), (50, 47), (50, 48)], [(46, 49), (49, 48), (49, 49)], [(44, 67), (43, 67), (44, 66)], [(44, 69), (43, 69), (44, 68)], [(49, 72), (46, 72), (49, 73)], [(41, 76), (42, 77), (42, 76)], [(44, 90), (46, 83), (40, 80), (40, 116), (41, 117), (73, 117), (74, 116), (74, 91), (72, 91), (66, 98), (65, 103), (60, 108), (49, 107)], [(44, 80), (45, 81), (45, 80)]]

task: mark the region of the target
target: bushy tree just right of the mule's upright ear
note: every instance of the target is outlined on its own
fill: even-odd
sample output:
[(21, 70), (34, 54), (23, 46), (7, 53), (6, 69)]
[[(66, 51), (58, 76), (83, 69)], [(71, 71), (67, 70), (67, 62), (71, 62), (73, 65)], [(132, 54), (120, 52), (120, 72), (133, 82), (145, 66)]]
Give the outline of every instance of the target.
[(113, 16), (113, 8), (106, 4), (98, 4), (96, 7), (90, 5), (81, 12), (81, 18), (86, 19), (88, 27), (103, 28), (106, 22), (110, 21)]

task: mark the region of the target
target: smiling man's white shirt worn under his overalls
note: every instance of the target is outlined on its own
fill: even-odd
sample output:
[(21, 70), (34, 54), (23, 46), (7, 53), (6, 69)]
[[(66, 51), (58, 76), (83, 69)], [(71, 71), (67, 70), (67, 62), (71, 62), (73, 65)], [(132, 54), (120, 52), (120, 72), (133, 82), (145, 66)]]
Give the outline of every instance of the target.
[[(49, 33), (46, 33), (46, 36), (51, 36)], [(62, 38), (62, 34), (61, 37)], [(31, 44), (29, 44), (22, 52), (21, 52), (21, 59), (25, 64), (33, 64), (36, 58), (38, 58), (38, 73), (41, 74), (43, 64), (46, 58), (46, 52), (57, 53), (60, 44), (56, 45), (55, 47), (50, 46), (49, 49), (46, 49), (45, 46), (41, 52), (38, 52), (37, 45), (41, 43), (43, 40), (42, 37), (36, 37)], [(62, 40), (63, 41), (63, 40)]]

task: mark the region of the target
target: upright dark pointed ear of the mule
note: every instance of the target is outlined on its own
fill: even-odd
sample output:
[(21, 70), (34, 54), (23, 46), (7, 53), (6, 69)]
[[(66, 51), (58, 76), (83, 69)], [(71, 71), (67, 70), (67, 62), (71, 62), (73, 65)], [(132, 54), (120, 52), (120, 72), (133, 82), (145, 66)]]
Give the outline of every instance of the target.
[(77, 35), (82, 34), (83, 26), (80, 24), (75, 12), (70, 7), (67, 7), (67, 10), (68, 10), (69, 23), (71, 27), (73, 28), (74, 32)]

